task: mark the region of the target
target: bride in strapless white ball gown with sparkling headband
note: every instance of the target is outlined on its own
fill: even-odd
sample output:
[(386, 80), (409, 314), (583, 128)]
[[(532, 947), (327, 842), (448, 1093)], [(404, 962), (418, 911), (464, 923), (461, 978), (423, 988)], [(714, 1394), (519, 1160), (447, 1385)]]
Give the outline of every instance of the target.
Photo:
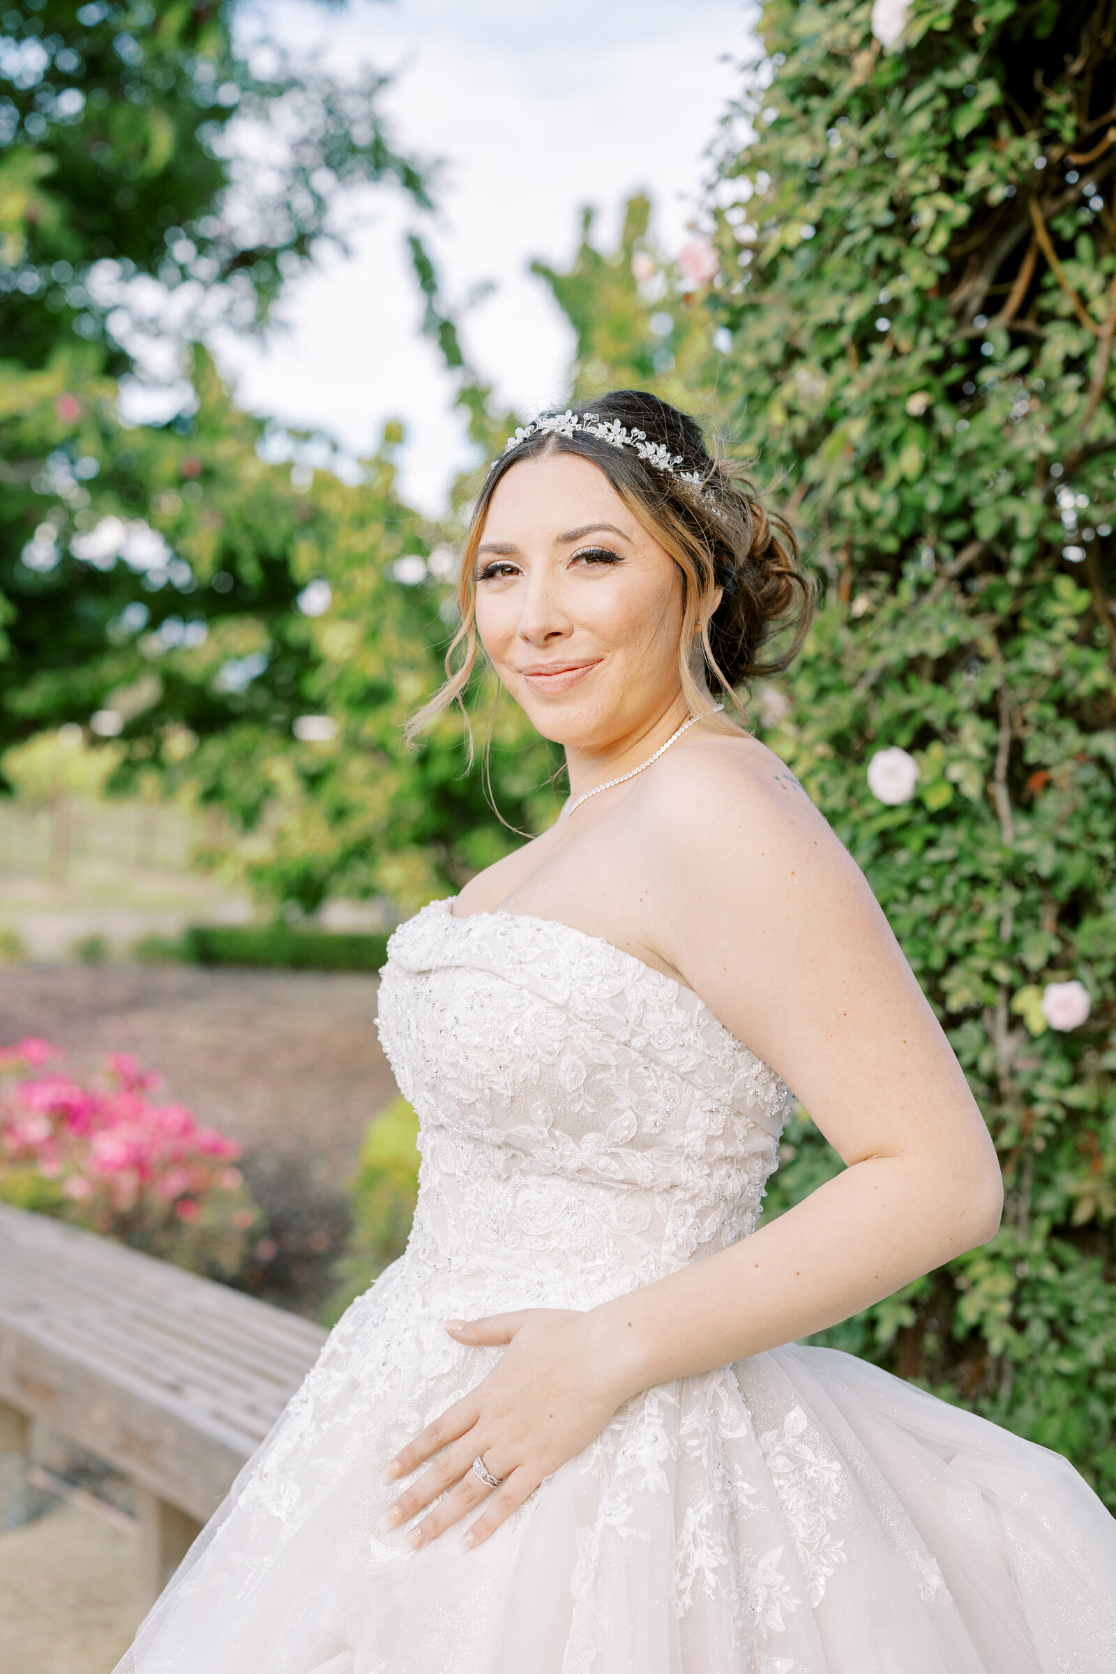
[[(795, 1346), (991, 1239), (1001, 1177), (862, 874), (733, 720), (803, 631), (790, 534), (619, 392), (509, 444), (460, 606), (415, 725), (480, 641), (571, 800), (392, 937), (407, 1252), (120, 1674), (1111, 1671), (1116, 1522), (1071, 1466)], [(847, 1167), (755, 1230), (791, 1088)]]

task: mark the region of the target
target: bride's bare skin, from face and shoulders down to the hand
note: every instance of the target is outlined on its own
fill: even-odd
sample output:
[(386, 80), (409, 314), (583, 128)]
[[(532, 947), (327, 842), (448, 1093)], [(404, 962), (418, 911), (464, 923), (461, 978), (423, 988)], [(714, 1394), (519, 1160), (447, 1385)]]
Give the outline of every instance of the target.
[[(550, 455), (509, 470), (479, 576), (485, 650), (566, 747), (574, 797), (686, 718), (679, 573), (596, 465)], [(485, 1540), (632, 1394), (835, 1324), (989, 1239), (1001, 1212), (987, 1128), (863, 876), (743, 730), (693, 727), (455, 902), (458, 917), (497, 907), (599, 936), (693, 988), (847, 1168), (731, 1249), (587, 1312), (448, 1321), (465, 1346), (507, 1349), (388, 1465), (397, 1481), (433, 1460), (383, 1528), (445, 1495), (412, 1550), (487, 1498), (465, 1545)], [(475, 1456), (502, 1478), (490, 1497)]]

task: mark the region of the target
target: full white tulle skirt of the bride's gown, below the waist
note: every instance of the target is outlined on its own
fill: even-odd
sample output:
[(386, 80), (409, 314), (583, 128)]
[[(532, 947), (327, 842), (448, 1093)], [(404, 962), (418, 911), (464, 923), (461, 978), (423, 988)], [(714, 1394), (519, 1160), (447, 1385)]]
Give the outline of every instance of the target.
[(455, 1307), (407, 1257), (353, 1304), (117, 1674), (1116, 1667), (1116, 1522), (1081, 1476), (832, 1349), (649, 1389), (485, 1545), (408, 1553), (383, 1468), (499, 1358)]

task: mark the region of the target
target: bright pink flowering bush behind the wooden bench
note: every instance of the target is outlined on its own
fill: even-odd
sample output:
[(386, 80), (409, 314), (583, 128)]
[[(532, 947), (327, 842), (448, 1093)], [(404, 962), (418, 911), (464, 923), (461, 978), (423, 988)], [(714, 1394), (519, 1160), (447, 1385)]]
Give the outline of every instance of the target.
[(0, 1046), (0, 1199), (60, 1215), (182, 1267), (233, 1279), (261, 1215), (241, 1147), (184, 1105), (156, 1103), (159, 1076), (110, 1053), (89, 1085), (28, 1036)]

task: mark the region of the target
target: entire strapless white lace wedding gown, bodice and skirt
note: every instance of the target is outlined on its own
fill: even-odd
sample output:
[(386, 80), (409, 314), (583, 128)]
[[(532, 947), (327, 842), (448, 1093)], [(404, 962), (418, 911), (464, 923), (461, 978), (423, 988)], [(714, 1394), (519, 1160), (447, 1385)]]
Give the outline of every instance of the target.
[(388, 954), (407, 1252), (119, 1674), (1111, 1674), (1116, 1522), (1081, 1476), (830, 1349), (648, 1389), (474, 1552), (378, 1533), (387, 1461), (499, 1358), (442, 1322), (592, 1307), (748, 1237), (790, 1100), (696, 994), (567, 926), (437, 901)]

